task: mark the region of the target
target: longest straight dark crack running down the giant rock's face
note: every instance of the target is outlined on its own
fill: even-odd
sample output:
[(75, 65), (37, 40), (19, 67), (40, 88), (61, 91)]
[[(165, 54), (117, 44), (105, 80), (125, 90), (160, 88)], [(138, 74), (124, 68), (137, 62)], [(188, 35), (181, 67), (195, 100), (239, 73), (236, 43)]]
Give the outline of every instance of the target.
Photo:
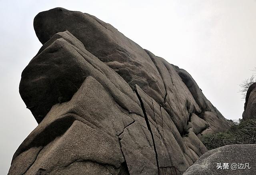
[(154, 151), (155, 151), (155, 154), (156, 154), (156, 165), (157, 165), (157, 169), (158, 169), (158, 175), (160, 175), (160, 172), (159, 172), (159, 165), (158, 165), (158, 156), (157, 156), (157, 152), (156, 152), (156, 144), (155, 144), (155, 141), (154, 141), (154, 135), (153, 135), (153, 132), (152, 132), (152, 129), (151, 129), (151, 126), (150, 126), (150, 123), (149, 123), (149, 120), (148, 120), (148, 116), (146, 114), (146, 110), (144, 108), (144, 104), (143, 104), (143, 101), (138, 93), (138, 90), (135, 86), (135, 93), (136, 95), (138, 96), (138, 99), (140, 101), (140, 105), (141, 105), (141, 109), (142, 109), (142, 112), (144, 114), (144, 118), (145, 118), (145, 121), (146, 121), (146, 125), (148, 127), (148, 130), (150, 131), (150, 134), (151, 134), (151, 137), (152, 137), (152, 141), (153, 141), (153, 147), (154, 147)]

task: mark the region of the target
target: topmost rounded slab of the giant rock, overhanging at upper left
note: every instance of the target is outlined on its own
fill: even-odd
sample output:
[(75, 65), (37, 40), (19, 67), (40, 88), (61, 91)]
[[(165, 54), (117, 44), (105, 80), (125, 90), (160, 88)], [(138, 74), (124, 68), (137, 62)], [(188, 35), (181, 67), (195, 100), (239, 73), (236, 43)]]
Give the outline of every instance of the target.
[(68, 30), (86, 50), (118, 72), (131, 87), (138, 84), (159, 102), (163, 100), (162, 79), (150, 57), (110, 24), (90, 14), (54, 8), (35, 17), (34, 29), (42, 44), (57, 32)]

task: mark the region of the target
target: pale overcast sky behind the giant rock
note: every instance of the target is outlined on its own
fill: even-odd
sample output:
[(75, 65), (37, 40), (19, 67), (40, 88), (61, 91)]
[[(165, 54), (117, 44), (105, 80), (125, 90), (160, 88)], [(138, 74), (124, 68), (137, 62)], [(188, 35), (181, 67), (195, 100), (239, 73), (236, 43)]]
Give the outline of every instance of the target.
[(0, 0), (0, 175), (37, 126), (18, 86), (22, 70), (42, 46), (34, 16), (55, 7), (110, 23), (142, 48), (187, 70), (224, 117), (242, 118), (239, 84), (256, 66), (255, 0)]

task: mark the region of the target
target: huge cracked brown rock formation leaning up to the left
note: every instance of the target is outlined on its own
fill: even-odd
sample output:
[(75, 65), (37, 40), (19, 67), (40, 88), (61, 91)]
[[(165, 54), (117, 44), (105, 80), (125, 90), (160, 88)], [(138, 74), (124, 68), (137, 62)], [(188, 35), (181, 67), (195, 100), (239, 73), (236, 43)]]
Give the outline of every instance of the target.
[(20, 95), (38, 127), (9, 175), (181, 175), (231, 125), (186, 72), (110, 24), (63, 8), (39, 13), (43, 46)]

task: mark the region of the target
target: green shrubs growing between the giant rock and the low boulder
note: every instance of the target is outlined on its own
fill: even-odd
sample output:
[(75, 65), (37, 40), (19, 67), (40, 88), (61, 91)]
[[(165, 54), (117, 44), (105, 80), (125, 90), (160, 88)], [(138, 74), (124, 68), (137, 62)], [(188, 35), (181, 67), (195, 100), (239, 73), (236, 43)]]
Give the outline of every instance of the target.
[(224, 145), (256, 143), (256, 119), (240, 119), (225, 132), (202, 135), (202, 143), (208, 150)]

